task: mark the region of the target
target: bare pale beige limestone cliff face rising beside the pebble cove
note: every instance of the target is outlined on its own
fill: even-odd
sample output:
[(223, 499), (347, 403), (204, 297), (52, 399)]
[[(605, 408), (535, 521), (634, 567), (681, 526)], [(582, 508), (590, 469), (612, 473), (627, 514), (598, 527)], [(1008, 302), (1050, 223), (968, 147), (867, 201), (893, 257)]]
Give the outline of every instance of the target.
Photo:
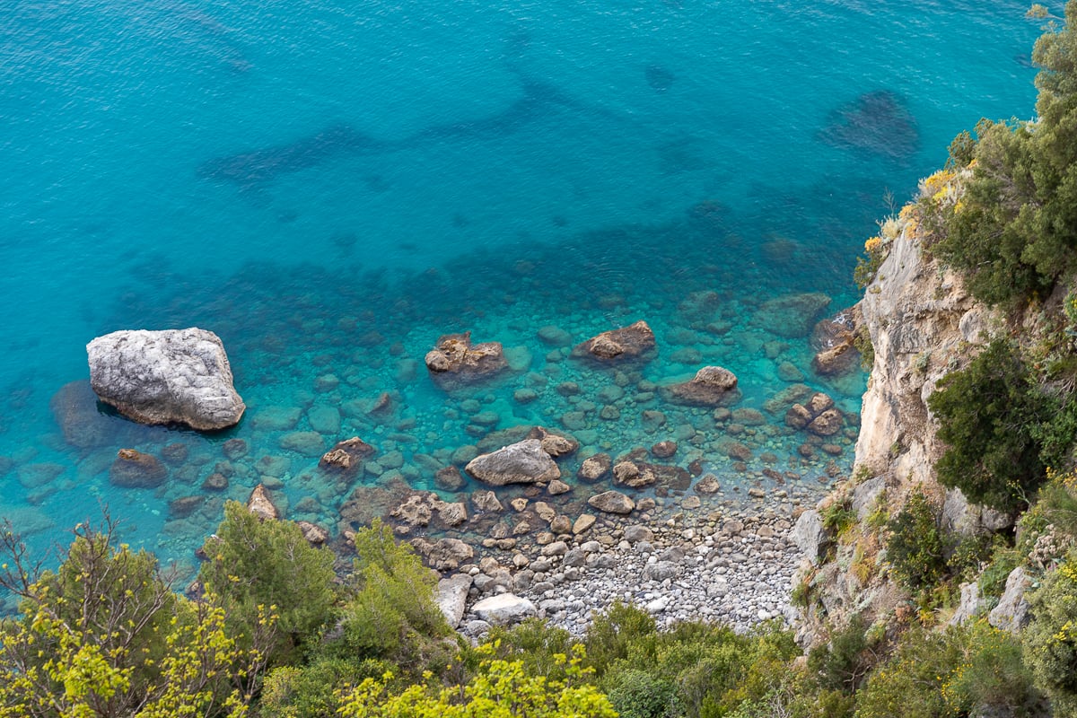
[[(936, 481), (933, 465), (945, 447), (927, 397), (939, 379), (987, 343), (994, 320), (956, 274), (925, 252), (915, 226), (907, 222), (894, 233), (861, 301), (875, 360), (853, 478), (798, 525), (796, 538), (809, 553), (795, 579), (806, 596), (799, 628), (808, 645), (825, 640), (827, 625), (842, 627), (854, 615), (868, 623), (885, 619), (905, 599), (887, 576), (878, 524), (869, 526), (869, 516), (881, 510), (892, 516), (920, 484), (945, 498), (948, 529), (975, 531), (984, 520), (960, 492), (946, 492)], [(820, 525), (819, 515), (835, 504), (855, 511), (857, 524), (840, 537), (822, 527), (810, 535), (808, 526)]]

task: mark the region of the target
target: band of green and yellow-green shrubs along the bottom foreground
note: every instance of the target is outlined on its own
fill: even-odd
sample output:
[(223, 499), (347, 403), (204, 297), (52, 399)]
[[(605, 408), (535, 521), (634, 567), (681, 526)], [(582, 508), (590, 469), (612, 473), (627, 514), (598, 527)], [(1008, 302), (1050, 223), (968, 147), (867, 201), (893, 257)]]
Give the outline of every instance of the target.
[[(56, 572), (27, 565), (8, 532), (2, 580), (23, 609), (0, 625), (0, 715), (1036, 716), (1051, 715), (1048, 700), (1053, 715), (1072, 715), (1077, 553), (1059, 547), (1077, 539), (1077, 479), (1052, 477), (1041, 493), (1025, 543), (1039, 548), (1023, 562), (1045, 578), (1022, 634), (982, 620), (940, 631), (931, 613), (904, 614), (871, 625), (854, 619), (807, 657), (777, 623), (746, 635), (699, 622), (659, 631), (620, 604), (581, 639), (533, 619), (472, 646), (433, 603), (434, 576), (381, 525), (356, 536), (347, 580), (295, 591), (277, 582), (321, 575), (327, 550), (292, 544), (289, 522), (251, 521), (229, 505), (218, 553), (204, 564), (207, 587), (219, 555), (286, 550), (236, 560), (230, 592), (198, 601), (173, 593), (152, 555), (116, 546), (108, 522), (80, 527)], [(932, 534), (934, 517), (926, 498), (908, 510), (891, 530), (905, 531), (918, 557), (914, 537)], [(1057, 541), (1053, 552), (1043, 536)], [(940, 541), (929, 539), (932, 551)], [(294, 591), (298, 604), (261, 603), (275, 590)]]

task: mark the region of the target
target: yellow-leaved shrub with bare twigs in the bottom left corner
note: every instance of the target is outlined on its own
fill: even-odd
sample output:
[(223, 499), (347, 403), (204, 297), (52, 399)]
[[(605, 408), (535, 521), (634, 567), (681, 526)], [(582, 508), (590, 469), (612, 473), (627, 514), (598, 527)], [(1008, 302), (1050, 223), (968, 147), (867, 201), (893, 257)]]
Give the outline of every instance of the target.
[(114, 527), (80, 525), (59, 568), (40, 576), (3, 531), (0, 585), (22, 616), (0, 623), (0, 715), (244, 715), (271, 617), (255, 616), (240, 645), (215, 596), (173, 593), (156, 558), (116, 546)]

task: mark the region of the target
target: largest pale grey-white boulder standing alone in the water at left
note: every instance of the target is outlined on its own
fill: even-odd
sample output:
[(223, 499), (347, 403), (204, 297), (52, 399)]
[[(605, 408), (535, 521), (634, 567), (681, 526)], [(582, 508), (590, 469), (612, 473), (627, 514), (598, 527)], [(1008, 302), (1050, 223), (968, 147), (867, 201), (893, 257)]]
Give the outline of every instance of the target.
[(212, 332), (113, 332), (86, 344), (86, 353), (98, 398), (143, 424), (212, 431), (238, 423), (247, 408)]

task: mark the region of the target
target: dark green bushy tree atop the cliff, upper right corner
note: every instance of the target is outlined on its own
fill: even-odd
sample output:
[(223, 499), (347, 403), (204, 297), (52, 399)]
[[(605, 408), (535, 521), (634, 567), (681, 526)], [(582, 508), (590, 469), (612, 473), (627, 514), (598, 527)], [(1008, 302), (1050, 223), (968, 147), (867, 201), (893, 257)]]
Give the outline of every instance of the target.
[(975, 296), (989, 304), (1046, 297), (1075, 268), (1077, 249), (1077, 2), (1066, 24), (1036, 42), (1039, 96), (1033, 122), (977, 125), (975, 147), (959, 137), (954, 164), (971, 177), (943, 212), (934, 251), (960, 269)]

